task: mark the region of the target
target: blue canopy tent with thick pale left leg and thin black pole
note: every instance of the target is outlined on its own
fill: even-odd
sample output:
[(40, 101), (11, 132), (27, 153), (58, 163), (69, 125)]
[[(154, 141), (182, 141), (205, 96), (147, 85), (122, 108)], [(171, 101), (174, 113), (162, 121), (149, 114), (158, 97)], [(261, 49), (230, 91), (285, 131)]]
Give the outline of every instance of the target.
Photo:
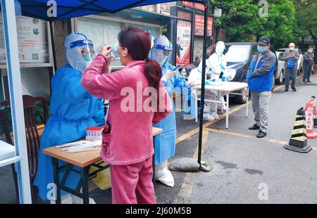
[[(15, 144), (15, 155), (17, 160), (18, 184), (20, 203), (32, 203), (30, 195), (30, 179), (28, 177), (27, 146), (23, 116), (23, 101), (19, 62), (18, 39), (15, 23), (15, 6), (12, 0), (0, 0), (2, 20), (4, 28), (4, 41), (6, 44), (6, 65), (8, 71), (8, 86), (11, 101), (11, 115), (13, 126), (13, 137)], [(18, 0), (20, 2), (22, 15), (47, 20), (50, 22), (51, 34), (53, 34), (52, 22), (66, 18), (75, 18), (83, 15), (97, 13), (116, 13), (125, 8), (146, 6), (171, 2), (173, 0)], [(203, 45), (203, 66), (206, 65), (206, 43), (207, 43), (207, 18), (209, 0), (187, 0), (205, 5), (204, 11), (204, 45)], [(53, 11), (52, 11), (53, 10)], [(52, 40), (54, 47), (54, 40)], [(54, 55), (56, 66), (56, 56)], [(200, 110), (204, 111), (205, 92), (205, 68), (202, 69), (201, 79), (201, 103)], [(199, 117), (199, 150), (198, 162), (201, 166), (201, 142), (203, 132), (203, 113)], [(6, 162), (11, 164), (11, 162)], [(1, 162), (0, 162), (1, 167)]]

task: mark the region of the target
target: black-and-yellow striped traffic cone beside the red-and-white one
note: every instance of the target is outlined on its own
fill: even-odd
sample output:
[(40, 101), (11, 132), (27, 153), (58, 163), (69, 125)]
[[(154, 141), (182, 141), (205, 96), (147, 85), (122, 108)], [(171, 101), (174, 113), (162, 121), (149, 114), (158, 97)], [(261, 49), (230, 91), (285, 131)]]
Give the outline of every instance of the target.
[(306, 117), (304, 108), (297, 110), (290, 142), (288, 145), (285, 145), (284, 148), (294, 150), (299, 153), (308, 153), (311, 151), (311, 146), (307, 145)]

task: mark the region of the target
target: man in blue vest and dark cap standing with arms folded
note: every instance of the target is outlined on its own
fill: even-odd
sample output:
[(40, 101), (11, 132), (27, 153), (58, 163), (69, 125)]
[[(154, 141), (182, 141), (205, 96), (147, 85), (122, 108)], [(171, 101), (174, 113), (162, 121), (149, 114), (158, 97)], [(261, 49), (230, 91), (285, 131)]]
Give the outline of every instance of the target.
[(249, 127), (259, 129), (256, 137), (263, 138), (268, 130), (268, 103), (271, 99), (274, 79), (276, 56), (270, 51), (270, 39), (260, 37), (258, 53), (256, 53), (249, 67), (247, 83), (251, 91), (251, 101), (256, 124)]

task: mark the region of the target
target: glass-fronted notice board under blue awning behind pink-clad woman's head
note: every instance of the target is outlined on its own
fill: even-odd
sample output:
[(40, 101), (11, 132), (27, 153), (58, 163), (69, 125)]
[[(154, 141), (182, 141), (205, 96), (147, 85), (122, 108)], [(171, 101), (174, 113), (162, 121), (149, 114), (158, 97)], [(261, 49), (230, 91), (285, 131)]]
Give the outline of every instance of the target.
[[(86, 34), (92, 39), (94, 48), (118, 41), (117, 35), (125, 27), (135, 26), (142, 30), (149, 30), (151, 39), (154, 40), (162, 34), (164, 25), (167, 25), (173, 16), (162, 15), (145, 11), (142, 9), (126, 9), (118, 13), (101, 13), (99, 15), (89, 15), (80, 18), (73, 18), (72, 30)], [(111, 65), (112, 70), (123, 68), (120, 59), (117, 58)]]

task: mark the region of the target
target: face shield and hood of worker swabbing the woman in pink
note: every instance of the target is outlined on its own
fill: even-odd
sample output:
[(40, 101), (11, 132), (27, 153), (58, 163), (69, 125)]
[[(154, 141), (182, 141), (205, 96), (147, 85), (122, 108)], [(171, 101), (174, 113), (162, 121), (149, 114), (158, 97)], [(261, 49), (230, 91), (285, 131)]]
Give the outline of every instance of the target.
[(84, 72), (96, 57), (94, 46), (84, 34), (75, 33), (72, 38), (73, 41), (66, 46), (66, 60), (73, 68)]

